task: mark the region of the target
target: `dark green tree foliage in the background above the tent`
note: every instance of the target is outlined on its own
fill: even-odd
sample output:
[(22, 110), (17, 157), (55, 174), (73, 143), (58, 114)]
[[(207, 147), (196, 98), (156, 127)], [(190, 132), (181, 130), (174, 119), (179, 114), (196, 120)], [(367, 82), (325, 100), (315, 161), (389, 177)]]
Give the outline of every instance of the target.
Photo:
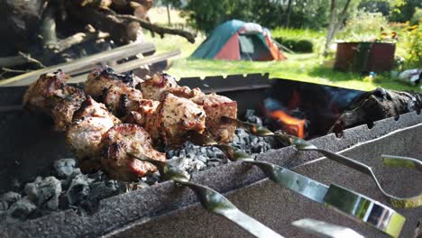
[(268, 28), (322, 29), (328, 24), (329, 5), (330, 0), (188, 0), (183, 10), (190, 23), (205, 32), (231, 19), (261, 23)]

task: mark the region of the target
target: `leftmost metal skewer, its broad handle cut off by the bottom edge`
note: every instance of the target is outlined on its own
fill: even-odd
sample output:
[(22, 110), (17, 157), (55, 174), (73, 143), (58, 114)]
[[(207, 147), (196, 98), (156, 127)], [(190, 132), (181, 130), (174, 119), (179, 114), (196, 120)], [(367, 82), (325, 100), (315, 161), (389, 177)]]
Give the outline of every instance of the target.
[(177, 186), (181, 185), (191, 188), (199, 198), (201, 205), (204, 206), (208, 212), (224, 216), (255, 237), (283, 238), (279, 233), (272, 231), (269, 227), (261, 224), (251, 216), (244, 214), (226, 197), (216, 192), (216, 190), (191, 182), (191, 176), (187, 171), (171, 166), (169, 163), (163, 161), (152, 160), (144, 155), (135, 156), (132, 153), (128, 154), (137, 160), (151, 162), (151, 164), (157, 166), (162, 179), (173, 180)]

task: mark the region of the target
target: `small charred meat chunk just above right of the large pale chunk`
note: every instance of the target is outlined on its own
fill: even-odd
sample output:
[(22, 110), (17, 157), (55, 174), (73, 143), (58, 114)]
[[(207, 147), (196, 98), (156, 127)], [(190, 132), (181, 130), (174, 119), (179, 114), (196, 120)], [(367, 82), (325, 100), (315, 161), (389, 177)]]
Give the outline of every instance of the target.
[(118, 117), (128, 114), (136, 101), (142, 100), (140, 90), (128, 87), (124, 82), (115, 82), (115, 85), (106, 89), (103, 101), (108, 110)]

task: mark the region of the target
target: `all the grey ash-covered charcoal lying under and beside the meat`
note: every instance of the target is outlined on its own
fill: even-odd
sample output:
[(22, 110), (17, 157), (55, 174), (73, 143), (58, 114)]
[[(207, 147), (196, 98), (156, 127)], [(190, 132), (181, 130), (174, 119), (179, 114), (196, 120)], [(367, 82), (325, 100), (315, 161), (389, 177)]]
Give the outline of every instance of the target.
[[(247, 111), (245, 120), (262, 124), (261, 118), (252, 110)], [(251, 156), (280, 148), (280, 144), (272, 138), (257, 137), (243, 129), (235, 131), (231, 145), (251, 153)], [(188, 173), (229, 162), (224, 152), (218, 148), (198, 146), (192, 142), (186, 142), (179, 150), (167, 151), (166, 155), (169, 163)], [(159, 172), (142, 178), (137, 183), (107, 178), (102, 171), (82, 174), (75, 159), (56, 160), (52, 167), (52, 176), (37, 177), (21, 187), (20, 193), (8, 192), (1, 197), (0, 224), (24, 221), (66, 209), (75, 209), (78, 214), (87, 215), (96, 211), (101, 199), (161, 182)], [(18, 187), (18, 181), (14, 182)]]

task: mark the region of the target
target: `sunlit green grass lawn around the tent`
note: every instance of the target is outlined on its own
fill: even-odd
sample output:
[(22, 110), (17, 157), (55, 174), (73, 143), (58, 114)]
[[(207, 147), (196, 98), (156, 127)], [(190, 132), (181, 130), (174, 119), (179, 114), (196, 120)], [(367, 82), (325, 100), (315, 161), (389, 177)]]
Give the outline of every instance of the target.
[(170, 75), (178, 78), (270, 73), (271, 78), (288, 78), (361, 90), (385, 87), (396, 90), (420, 91), (419, 87), (412, 87), (393, 80), (387, 74), (377, 75), (373, 80), (368, 80), (356, 73), (335, 71), (325, 66), (323, 60), (316, 53), (286, 54), (288, 57), (286, 60), (266, 62), (188, 59), (188, 56), (197, 49), (197, 46), (203, 40), (204, 36), (200, 36), (195, 44), (190, 44), (177, 36), (166, 36), (164, 39), (147, 36), (147, 41), (155, 43), (159, 52), (178, 48), (182, 51), (178, 58), (171, 59), (171, 67), (167, 70)]

